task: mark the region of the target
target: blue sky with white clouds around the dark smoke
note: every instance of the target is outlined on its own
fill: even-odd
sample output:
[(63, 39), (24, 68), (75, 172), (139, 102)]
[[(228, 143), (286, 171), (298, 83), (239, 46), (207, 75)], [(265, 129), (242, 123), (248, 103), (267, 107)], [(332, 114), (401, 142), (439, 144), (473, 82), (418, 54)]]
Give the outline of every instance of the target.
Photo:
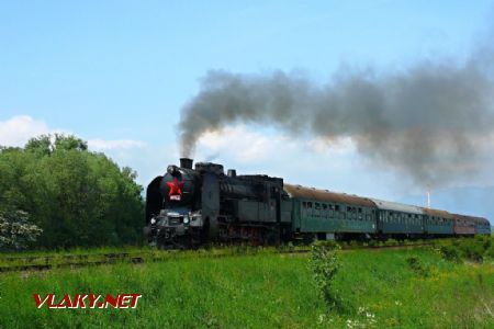
[[(482, 0), (0, 0), (0, 145), (75, 134), (146, 185), (178, 162), (181, 109), (211, 70), (326, 81), (341, 67), (461, 61), (490, 33), (493, 14), (494, 2)], [(194, 159), (386, 200), (425, 195), (366, 161), (350, 140), (295, 139), (261, 125), (207, 133)]]

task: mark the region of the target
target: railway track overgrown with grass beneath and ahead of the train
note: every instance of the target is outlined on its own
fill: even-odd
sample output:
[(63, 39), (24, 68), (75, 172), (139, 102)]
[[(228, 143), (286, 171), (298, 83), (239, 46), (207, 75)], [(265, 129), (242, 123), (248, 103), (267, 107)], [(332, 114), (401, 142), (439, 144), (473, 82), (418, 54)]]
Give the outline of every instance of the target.
[[(433, 243), (408, 243), (398, 246), (368, 246), (349, 247), (343, 251), (350, 250), (380, 250), (380, 249), (411, 249), (431, 246)], [(23, 272), (23, 271), (47, 271), (53, 269), (78, 269), (86, 266), (97, 266), (115, 263), (149, 263), (162, 262), (176, 259), (187, 259), (190, 256), (198, 258), (224, 258), (233, 256), (254, 256), (262, 252), (279, 254), (304, 254), (311, 249), (278, 249), (272, 251), (262, 251), (255, 248), (231, 248), (218, 249), (218, 253), (209, 251), (189, 251), (188, 254), (178, 250), (149, 251), (149, 252), (117, 252), (117, 253), (88, 253), (88, 254), (61, 254), (61, 256), (32, 256), (32, 257), (3, 257), (0, 258), (0, 273), (2, 272)]]

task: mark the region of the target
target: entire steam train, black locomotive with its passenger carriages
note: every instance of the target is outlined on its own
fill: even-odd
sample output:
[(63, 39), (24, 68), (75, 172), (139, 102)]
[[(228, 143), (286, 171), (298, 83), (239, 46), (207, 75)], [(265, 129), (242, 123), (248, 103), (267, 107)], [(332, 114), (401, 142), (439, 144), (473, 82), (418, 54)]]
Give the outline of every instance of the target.
[(283, 183), (263, 174), (225, 174), (218, 163), (181, 158), (146, 191), (145, 235), (159, 248), (203, 243), (278, 245), (314, 239), (490, 235), (482, 217), (451, 214)]

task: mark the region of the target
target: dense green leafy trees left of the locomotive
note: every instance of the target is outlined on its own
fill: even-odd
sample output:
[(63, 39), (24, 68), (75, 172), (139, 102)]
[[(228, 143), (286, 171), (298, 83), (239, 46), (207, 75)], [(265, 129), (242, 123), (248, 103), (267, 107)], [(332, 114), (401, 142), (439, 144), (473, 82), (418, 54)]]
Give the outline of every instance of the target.
[(136, 172), (71, 135), (0, 147), (0, 249), (139, 243)]

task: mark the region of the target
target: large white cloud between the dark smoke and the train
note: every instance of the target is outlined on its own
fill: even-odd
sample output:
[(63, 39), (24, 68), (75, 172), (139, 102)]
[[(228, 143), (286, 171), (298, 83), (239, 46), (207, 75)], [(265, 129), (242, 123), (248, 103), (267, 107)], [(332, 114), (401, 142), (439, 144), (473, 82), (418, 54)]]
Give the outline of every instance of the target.
[[(350, 139), (292, 138), (262, 134), (246, 125), (204, 134), (198, 141), (195, 159), (211, 158), (225, 168), (236, 168), (239, 174), (276, 175), (291, 183), (348, 193), (377, 195), (379, 190), (381, 195), (385, 193), (382, 180), (390, 179), (382, 171), (366, 168)], [(383, 184), (375, 184), (378, 174)]]

